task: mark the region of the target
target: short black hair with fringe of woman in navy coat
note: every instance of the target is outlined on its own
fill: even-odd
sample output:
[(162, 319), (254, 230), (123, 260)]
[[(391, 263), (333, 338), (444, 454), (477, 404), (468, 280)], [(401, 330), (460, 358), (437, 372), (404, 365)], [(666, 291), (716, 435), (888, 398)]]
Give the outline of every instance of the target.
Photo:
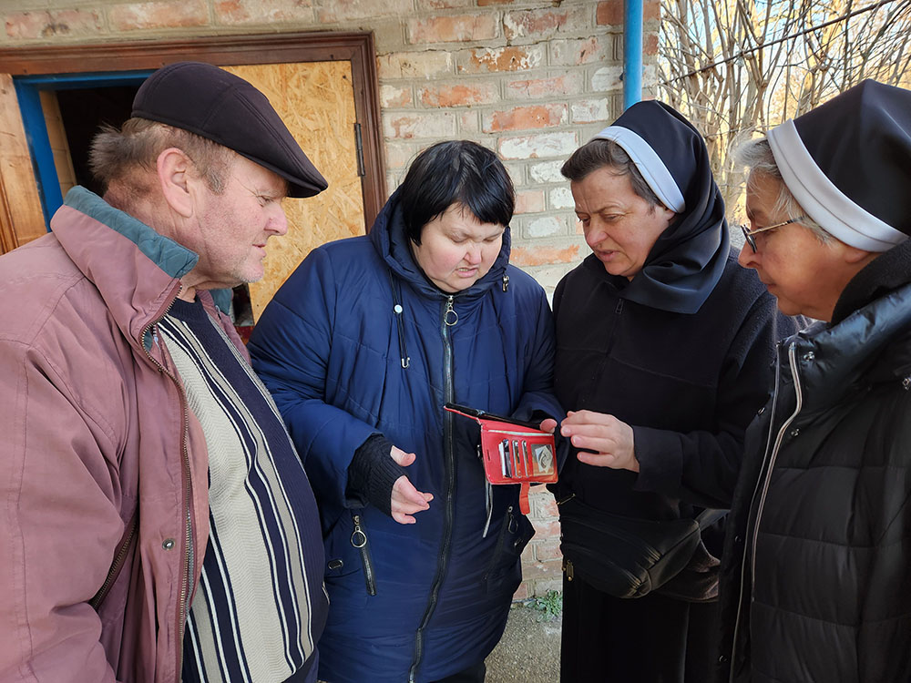
[(453, 204), (482, 223), (507, 227), (516, 196), (507, 169), (491, 150), (468, 140), (437, 142), (421, 152), (399, 188), (405, 234), (421, 243), (421, 231)]

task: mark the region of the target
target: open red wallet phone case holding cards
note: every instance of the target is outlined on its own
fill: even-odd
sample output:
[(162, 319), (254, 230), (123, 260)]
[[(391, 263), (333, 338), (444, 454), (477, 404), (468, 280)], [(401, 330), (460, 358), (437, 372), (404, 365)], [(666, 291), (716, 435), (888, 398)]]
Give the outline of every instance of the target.
[(557, 451), (554, 435), (537, 424), (514, 420), (456, 403), (445, 410), (463, 415), (481, 425), (481, 460), (490, 484), (519, 484), (519, 507), (529, 512), (528, 487), (557, 481)]

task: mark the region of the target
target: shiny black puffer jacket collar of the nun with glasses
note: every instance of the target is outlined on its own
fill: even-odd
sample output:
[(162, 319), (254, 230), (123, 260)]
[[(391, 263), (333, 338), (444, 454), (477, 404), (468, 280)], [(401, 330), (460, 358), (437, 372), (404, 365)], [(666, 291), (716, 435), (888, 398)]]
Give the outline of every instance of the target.
[(790, 367), (794, 347), (804, 415), (823, 411), (847, 392), (876, 382), (898, 382), (911, 371), (911, 283), (866, 303), (835, 324), (815, 322), (780, 346), (779, 362)]

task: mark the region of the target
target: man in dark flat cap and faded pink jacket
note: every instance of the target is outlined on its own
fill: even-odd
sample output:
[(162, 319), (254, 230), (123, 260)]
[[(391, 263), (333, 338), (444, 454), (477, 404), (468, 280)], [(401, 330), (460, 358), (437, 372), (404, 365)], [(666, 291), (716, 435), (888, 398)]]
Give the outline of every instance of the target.
[(260, 279), (281, 200), (326, 181), (192, 62), (91, 164), (104, 198), (72, 189), (0, 258), (0, 680), (314, 681), (316, 504), (212, 292)]

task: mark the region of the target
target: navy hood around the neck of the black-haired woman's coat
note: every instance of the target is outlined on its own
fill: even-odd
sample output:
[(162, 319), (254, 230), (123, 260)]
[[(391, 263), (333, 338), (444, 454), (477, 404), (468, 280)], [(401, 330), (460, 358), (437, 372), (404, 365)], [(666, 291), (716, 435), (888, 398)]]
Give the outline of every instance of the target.
[[(440, 299), (445, 297), (447, 294), (427, 278), (412, 255), (411, 245), (404, 234), (404, 219), (402, 218), (402, 209), (399, 206), (398, 194), (399, 190), (396, 189), (393, 196), (386, 202), (383, 210), (380, 211), (380, 215), (376, 217), (374, 226), (370, 229), (370, 240), (373, 242), (380, 258), (384, 260), (386, 266), (396, 277), (407, 282), (415, 291), (419, 291), (427, 298)], [(467, 290), (455, 292), (455, 296), (459, 298), (459, 301), (475, 299), (503, 279), (509, 263), (510, 248), (511, 236), (507, 228), (503, 232), (503, 244), (500, 247), (500, 252), (496, 255), (494, 265), (491, 266), (483, 278), (477, 280)]]

